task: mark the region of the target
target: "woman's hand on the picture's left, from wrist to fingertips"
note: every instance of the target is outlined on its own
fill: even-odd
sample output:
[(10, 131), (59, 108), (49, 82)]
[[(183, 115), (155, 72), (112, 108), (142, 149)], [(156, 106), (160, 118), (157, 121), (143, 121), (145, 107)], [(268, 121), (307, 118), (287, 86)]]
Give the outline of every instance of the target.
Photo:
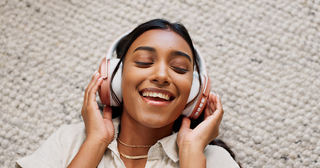
[(103, 116), (101, 116), (96, 103), (96, 92), (101, 83), (103, 83), (101, 74), (96, 71), (84, 92), (81, 114), (86, 127), (86, 141), (101, 141), (106, 148), (115, 136), (115, 128), (110, 106), (105, 106)]

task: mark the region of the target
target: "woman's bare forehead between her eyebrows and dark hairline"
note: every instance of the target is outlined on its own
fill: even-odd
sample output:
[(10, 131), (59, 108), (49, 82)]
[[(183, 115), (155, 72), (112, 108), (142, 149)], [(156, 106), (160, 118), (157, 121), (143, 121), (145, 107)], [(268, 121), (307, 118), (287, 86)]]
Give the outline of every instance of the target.
[(140, 46), (149, 46), (157, 50), (177, 50), (186, 52), (193, 59), (190, 46), (176, 32), (170, 29), (152, 29), (141, 34), (130, 46), (128, 52), (133, 52)]

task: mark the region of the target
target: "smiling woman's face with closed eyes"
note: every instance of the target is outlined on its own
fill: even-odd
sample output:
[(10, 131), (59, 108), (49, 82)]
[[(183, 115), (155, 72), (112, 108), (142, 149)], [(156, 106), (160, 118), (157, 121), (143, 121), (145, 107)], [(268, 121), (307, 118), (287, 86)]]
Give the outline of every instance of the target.
[(122, 71), (124, 113), (146, 127), (174, 123), (184, 110), (193, 80), (188, 43), (169, 29), (153, 29), (136, 38)]

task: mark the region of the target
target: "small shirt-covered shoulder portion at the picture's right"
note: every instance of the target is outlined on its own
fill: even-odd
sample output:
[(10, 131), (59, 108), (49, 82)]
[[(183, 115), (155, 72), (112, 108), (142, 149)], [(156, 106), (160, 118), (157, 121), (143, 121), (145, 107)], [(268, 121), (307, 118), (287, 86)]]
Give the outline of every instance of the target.
[(230, 153), (221, 146), (208, 145), (204, 151), (207, 167), (239, 167)]

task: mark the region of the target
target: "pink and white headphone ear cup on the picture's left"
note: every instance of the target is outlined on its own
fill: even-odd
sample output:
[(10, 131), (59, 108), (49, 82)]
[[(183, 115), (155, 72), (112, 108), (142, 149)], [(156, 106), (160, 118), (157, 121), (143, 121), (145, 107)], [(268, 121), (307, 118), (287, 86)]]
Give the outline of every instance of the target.
[[(99, 98), (102, 104), (106, 106), (117, 106), (115, 101), (112, 98), (110, 92), (110, 80), (113, 75), (113, 71), (115, 71), (115, 66), (117, 66), (120, 59), (106, 59), (104, 58), (100, 64), (99, 73), (103, 77), (103, 83), (98, 88)], [(121, 78), (122, 78), (122, 63), (113, 78), (113, 92), (118, 97), (120, 101), (122, 101), (122, 89), (121, 89)]]

